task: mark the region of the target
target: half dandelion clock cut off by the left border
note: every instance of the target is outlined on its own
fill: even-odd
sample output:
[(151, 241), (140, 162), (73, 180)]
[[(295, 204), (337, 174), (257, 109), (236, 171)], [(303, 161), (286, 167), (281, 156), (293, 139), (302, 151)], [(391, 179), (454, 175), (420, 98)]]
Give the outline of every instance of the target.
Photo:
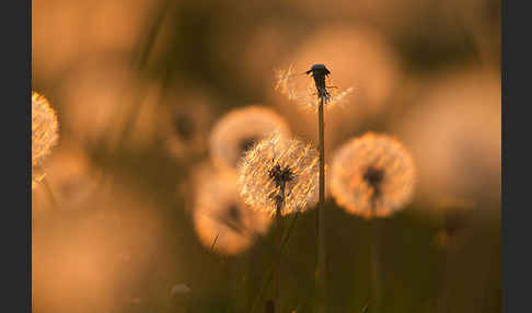
[(58, 141), (59, 124), (54, 108), (32, 91), (32, 189), (44, 177), (43, 163)]

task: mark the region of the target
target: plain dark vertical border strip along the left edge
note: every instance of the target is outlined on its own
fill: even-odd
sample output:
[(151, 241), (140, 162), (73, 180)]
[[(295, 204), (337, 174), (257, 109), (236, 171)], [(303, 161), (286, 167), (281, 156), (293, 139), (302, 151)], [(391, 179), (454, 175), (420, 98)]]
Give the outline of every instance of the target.
[[(3, 1), (2, 19), (2, 311), (32, 312), (32, 2)], [(7, 160), (5, 160), (7, 159)]]

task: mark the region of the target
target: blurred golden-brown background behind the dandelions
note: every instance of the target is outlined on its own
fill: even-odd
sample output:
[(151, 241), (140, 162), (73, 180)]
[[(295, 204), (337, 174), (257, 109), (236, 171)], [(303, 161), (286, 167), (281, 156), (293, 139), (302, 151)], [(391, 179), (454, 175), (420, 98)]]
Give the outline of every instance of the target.
[[(274, 90), (275, 70), (313, 63), (354, 88), (326, 112), (327, 175), (334, 152), (368, 131), (400, 141), (416, 165), (412, 202), (382, 219), (382, 310), (499, 312), (494, 0), (34, 0), (32, 84), (59, 142), (32, 190), (33, 312), (263, 312), (274, 228), (252, 222), (261, 235), (243, 240), (220, 227), (229, 235), (216, 242), (197, 198), (221, 175), (211, 160), (240, 153), (211, 152), (223, 151), (211, 130), (234, 109), (265, 106), (317, 143), (315, 112)], [(224, 140), (259, 128), (233, 124)], [(362, 312), (370, 224), (326, 182), (328, 312)], [(309, 209), (290, 233), (281, 312), (314, 312), (315, 223)]]

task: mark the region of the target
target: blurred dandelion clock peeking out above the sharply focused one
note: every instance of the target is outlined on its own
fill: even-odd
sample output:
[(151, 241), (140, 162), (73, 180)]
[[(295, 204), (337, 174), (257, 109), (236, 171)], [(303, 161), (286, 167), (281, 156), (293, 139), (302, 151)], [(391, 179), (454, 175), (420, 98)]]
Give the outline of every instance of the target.
[(210, 136), (212, 163), (221, 169), (236, 169), (244, 153), (274, 131), (282, 136), (291, 132), (285, 119), (270, 108), (253, 105), (228, 113)]

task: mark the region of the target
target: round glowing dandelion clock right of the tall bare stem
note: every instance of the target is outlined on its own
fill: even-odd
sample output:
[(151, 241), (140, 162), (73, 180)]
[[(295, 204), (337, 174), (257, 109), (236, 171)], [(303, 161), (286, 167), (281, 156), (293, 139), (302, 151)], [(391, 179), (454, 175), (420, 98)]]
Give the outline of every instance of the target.
[(414, 192), (412, 156), (385, 135), (369, 132), (340, 147), (333, 158), (331, 175), (338, 205), (366, 218), (402, 209)]

